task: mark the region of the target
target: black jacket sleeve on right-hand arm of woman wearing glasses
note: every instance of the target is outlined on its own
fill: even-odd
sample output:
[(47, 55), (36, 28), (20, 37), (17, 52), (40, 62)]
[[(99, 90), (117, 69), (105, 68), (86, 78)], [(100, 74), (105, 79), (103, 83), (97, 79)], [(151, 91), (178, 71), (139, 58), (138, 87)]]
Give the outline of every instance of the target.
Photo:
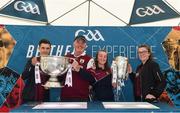
[(156, 98), (158, 98), (162, 92), (164, 91), (166, 87), (166, 81), (165, 77), (163, 76), (159, 65), (157, 63), (153, 63), (152, 65), (152, 73), (155, 78), (155, 86), (154, 88), (150, 91), (150, 94), (154, 95)]

